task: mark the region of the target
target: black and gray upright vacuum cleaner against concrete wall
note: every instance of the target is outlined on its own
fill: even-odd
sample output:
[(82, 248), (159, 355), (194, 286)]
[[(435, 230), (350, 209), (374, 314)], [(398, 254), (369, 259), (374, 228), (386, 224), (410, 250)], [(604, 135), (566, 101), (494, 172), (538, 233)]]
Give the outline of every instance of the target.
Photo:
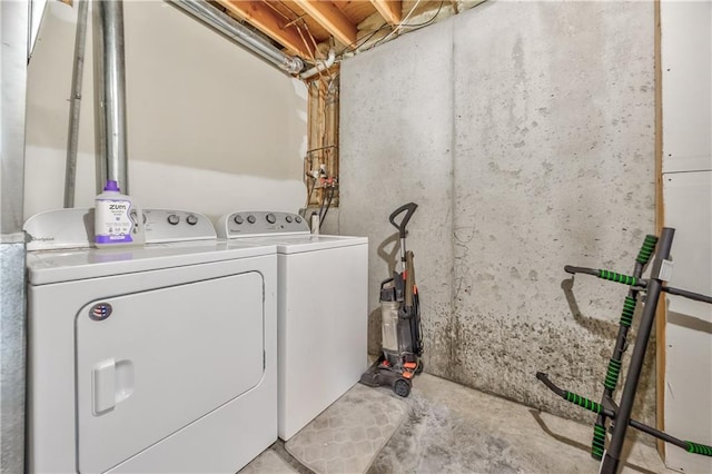
[[(403, 270), (398, 273), (396, 268), (393, 277), (380, 283), (383, 350), (360, 377), (364, 385), (388, 385), (402, 397), (411, 394), (413, 377), (423, 371), (418, 289), (415, 285), (413, 251), (405, 248), (405, 227), (417, 207), (417, 204), (408, 203), (388, 217), (390, 224), (398, 229)], [(397, 223), (396, 218), (403, 213), (405, 216)]]

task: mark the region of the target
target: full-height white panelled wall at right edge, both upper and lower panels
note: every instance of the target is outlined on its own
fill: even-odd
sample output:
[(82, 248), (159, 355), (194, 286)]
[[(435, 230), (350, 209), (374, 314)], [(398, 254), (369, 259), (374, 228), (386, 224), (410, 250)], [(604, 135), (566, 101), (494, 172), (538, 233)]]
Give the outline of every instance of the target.
[[(675, 229), (670, 285), (712, 295), (712, 2), (661, 1), (664, 225)], [(712, 305), (668, 298), (665, 431), (712, 445)], [(666, 446), (669, 467), (712, 460)]]

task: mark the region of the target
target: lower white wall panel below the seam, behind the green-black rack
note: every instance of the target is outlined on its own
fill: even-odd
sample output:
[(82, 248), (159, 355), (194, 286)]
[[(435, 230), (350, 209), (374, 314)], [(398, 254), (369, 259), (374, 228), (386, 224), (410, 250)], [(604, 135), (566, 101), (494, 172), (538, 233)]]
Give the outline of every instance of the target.
[[(712, 171), (664, 175), (665, 226), (675, 229), (670, 286), (712, 295)], [(712, 446), (712, 305), (668, 296), (665, 431)], [(665, 463), (712, 472), (712, 458), (668, 445)]]

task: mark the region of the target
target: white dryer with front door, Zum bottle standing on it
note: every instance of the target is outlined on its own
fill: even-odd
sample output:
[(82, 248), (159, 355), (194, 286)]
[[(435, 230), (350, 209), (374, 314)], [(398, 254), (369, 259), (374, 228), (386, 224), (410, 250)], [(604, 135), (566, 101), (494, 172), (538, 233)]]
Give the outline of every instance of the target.
[(24, 227), (29, 472), (237, 472), (277, 440), (275, 246), (154, 209), (89, 248), (91, 211)]

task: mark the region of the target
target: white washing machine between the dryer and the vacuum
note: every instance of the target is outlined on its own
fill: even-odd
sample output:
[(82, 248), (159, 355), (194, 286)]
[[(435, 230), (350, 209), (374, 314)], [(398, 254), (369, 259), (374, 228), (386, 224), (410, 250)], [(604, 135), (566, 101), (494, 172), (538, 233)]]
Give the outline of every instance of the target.
[(233, 213), (217, 230), (277, 246), (278, 433), (287, 441), (368, 366), (368, 239), (312, 235), (287, 213)]

